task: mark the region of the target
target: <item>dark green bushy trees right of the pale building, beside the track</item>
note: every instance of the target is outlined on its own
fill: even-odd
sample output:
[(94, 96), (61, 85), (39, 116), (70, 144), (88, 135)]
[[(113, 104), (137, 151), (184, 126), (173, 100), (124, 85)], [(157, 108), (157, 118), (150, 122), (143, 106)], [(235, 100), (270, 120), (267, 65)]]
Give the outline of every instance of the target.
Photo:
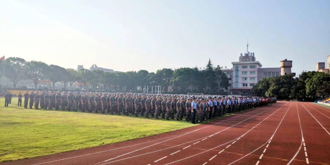
[(330, 74), (303, 71), (299, 77), (292, 74), (264, 78), (252, 88), (258, 96), (278, 97), (281, 99), (316, 100), (329, 97)]

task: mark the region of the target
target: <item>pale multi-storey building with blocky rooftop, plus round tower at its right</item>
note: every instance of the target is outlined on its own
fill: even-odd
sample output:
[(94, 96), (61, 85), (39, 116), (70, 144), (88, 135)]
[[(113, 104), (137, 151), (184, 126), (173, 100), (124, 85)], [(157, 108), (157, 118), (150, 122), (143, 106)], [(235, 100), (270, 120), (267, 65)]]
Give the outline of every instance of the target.
[(252, 87), (263, 78), (291, 74), (292, 61), (287, 59), (280, 61), (279, 68), (262, 68), (262, 64), (256, 61), (254, 52), (241, 53), (238, 62), (232, 62), (232, 69), (223, 69), (226, 73), (231, 94), (249, 94)]

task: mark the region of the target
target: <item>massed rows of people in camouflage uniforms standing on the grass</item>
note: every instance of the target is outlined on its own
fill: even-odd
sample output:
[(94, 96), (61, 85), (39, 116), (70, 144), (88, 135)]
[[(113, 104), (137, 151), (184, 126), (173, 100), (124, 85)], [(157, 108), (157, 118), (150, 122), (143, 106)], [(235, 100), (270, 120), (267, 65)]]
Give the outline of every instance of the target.
[[(32, 109), (55, 109), (67, 111), (88, 111), (124, 115), (133, 114), (149, 118), (176, 119), (192, 123), (203, 122), (226, 113), (233, 113), (259, 106), (268, 106), (276, 98), (207, 95), (169, 95), (145, 93), (100, 93), (100, 92), (60, 92), (26, 91), (18, 94), (18, 106)], [(5, 95), (5, 106), (11, 101)]]

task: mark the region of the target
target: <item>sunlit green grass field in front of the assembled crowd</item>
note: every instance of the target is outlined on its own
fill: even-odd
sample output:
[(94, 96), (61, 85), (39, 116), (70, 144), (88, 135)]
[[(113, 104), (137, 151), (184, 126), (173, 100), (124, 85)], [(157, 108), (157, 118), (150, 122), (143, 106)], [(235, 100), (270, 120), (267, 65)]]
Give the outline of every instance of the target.
[[(24, 99), (23, 99), (24, 100)], [(186, 121), (4, 107), (0, 98), (0, 162), (142, 138), (194, 126)]]

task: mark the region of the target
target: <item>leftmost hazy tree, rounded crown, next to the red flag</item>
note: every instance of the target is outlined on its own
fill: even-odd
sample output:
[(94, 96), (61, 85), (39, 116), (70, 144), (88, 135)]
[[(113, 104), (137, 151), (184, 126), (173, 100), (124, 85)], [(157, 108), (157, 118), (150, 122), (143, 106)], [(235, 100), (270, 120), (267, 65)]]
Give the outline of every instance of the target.
[(9, 57), (3, 64), (5, 65), (5, 76), (13, 83), (14, 88), (18, 81), (26, 79), (28, 66), (23, 58)]

